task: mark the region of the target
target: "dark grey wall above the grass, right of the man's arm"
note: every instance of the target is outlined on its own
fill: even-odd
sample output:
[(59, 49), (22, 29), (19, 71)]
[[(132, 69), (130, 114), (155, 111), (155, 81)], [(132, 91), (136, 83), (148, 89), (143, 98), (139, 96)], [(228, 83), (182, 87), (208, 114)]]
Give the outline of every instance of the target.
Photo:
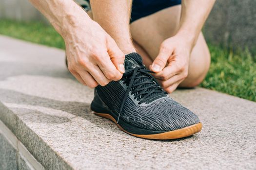
[(204, 26), (211, 43), (256, 50), (256, 0), (217, 0)]

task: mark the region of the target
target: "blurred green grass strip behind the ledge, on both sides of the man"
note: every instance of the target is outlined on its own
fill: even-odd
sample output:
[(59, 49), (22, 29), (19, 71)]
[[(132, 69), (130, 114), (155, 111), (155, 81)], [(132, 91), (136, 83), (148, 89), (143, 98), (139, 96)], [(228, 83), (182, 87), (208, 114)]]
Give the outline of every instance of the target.
[[(60, 49), (65, 44), (51, 27), (39, 22), (0, 20), (0, 34)], [(209, 45), (212, 63), (200, 86), (256, 102), (256, 57), (248, 50), (233, 53)]]

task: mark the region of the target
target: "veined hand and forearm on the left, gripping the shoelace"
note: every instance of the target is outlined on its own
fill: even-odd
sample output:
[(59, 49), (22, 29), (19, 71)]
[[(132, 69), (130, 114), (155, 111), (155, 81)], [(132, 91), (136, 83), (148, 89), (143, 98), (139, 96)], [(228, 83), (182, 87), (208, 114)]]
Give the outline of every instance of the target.
[(122, 78), (123, 52), (74, 0), (30, 1), (63, 37), (68, 68), (80, 83), (96, 87)]

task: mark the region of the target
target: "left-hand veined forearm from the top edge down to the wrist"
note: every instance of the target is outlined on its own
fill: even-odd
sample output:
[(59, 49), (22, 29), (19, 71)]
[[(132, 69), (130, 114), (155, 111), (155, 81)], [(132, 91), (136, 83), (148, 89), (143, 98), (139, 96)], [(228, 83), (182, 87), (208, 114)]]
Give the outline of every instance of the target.
[(49, 20), (62, 37), (79, 26), (80, 20), (91, 20), (73, 0), (30, 0), (30, 2)]

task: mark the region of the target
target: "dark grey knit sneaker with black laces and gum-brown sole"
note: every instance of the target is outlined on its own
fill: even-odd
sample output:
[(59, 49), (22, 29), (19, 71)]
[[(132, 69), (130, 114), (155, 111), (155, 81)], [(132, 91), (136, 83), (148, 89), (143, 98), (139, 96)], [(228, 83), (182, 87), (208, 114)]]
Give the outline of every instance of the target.
[(169, 97), (136, 52), (125, 56), (119, 81), (98, 85), (91, 109), (124, 132), (149, 139), (176, 139), (202, 129), (198, 117)]

